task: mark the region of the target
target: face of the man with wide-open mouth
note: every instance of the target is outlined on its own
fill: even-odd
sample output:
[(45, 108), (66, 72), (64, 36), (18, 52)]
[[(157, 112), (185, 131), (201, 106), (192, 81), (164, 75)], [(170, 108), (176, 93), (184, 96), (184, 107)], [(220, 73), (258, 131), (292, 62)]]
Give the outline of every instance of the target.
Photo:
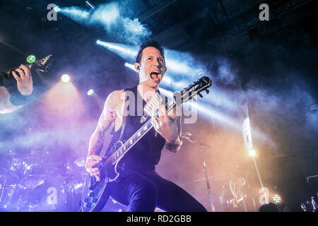
[(139, 64), (139, 83), (158, 88), (167, 68), (165, 58), (155, 47), (146, 47), (141, 54)]

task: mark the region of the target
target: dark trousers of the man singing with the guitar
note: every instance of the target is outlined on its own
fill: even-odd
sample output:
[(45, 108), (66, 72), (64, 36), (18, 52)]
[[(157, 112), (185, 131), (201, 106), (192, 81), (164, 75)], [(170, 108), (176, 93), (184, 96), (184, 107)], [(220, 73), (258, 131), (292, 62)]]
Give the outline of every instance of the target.
[[(122, 175), (122, 174), (121, 174)], [(153, 171), (127, 170), (118, 182), (108, 185), (110, 196), (128, 206), (129, 212), (153, 212), (155, 207), (167, 212), (206, 212), (206, 208), (181, 187)]]

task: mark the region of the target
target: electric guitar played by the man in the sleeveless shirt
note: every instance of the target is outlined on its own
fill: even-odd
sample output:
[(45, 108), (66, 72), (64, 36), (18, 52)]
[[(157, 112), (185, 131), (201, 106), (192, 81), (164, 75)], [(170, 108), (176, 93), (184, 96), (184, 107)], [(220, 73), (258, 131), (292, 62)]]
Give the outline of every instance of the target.
[[(194, 99), (195, 95), (201, 95), (202, 91), (208, 93), (208, 88), (211, 87), (211, 79), (204, 76), (199, 78), (189, 87), (184, 88), (179, 94), (181, 95), (181, 102), (187, 102), (190, 99)], [(167, 112), (170, 112), (176, 105), (174, 98), (170, 99), (166, 104)], [(88, 176), (83, 184), (83, 191), (81, 196), (81, 210), (83, 212), (95, 212), (100, 211), (105, 206), (109, 198), (107, 192), (107, 183), (113, 182), (119, 177), (120, 169), (122, 169), (121, 160), (124, 155), (146, 134), (153, 128), (151, 124), (151, 117), (146, 117), (146, 121), (141, 128), (134, 133), (124, 143), (117, 141), (110, 149), (107, 157), (103, 157), (103, 160), (97, 165), (100, 168), (100, 182), (96, 177)]]

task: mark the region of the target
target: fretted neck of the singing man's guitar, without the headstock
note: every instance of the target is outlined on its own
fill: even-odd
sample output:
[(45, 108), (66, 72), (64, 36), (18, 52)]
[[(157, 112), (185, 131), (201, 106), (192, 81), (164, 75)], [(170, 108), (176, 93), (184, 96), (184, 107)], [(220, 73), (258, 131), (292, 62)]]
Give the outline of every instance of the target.
[[(167, 102), (167, 112), (170, 112), (175, 107), (175, 100), (171, 99), (169, 102)], [(153, 128), (153, 124), (151, 123), (151, 119), (148, 119), (141, 128), (134, 133), (133, 136), (131, 136), (117, 151), (112, 153), (110, 157), (105, 161), (103, 164), (108, 165), (108, 163), (112, 162), (113, 164), (117, 162), (126, 152), (128, 152), (143, 136), (148, 133)]]

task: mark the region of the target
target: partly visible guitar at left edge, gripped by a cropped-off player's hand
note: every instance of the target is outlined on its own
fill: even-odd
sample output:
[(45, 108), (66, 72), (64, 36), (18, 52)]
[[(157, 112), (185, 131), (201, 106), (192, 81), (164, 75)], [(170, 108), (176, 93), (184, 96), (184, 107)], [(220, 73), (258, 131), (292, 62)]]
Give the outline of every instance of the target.
[[(33, 62), (32, 64), (26, 64), (29, 69), (38, 69), (42, 72), (47, 72), (51, 68), (53, 64), (53, 56), (48, 55), (47, 57), (44, 57), (42, 59), (39, 59), (38, 61)], [(13, 78), (12, 71), (18, 69), (18, 67), (14, 69), (7, 69), (4, 71), (0, 71), (0, 81), (8, 79), (8, 78)]]

